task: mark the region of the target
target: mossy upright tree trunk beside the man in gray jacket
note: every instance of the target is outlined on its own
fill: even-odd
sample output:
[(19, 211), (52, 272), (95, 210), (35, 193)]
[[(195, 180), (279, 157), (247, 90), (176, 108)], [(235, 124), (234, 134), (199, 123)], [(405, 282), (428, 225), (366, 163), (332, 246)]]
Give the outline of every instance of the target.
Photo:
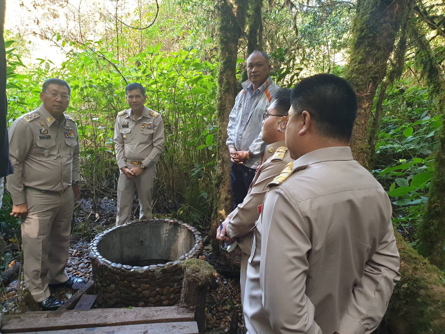
[(216, 102), (218, 130), (218, 171), (214, 181), (215, 206), (213, 214), (212, 236), (219, 226), (219, 220), (225, 219), (232, 211), (230, 183), (230, 156), (226, 146), (229, 114), (235, 103), (237, 93), (236, 60), (238, 41), (245, 25), (247, 0), (229, 0), (219, 2), (219, 69), (218, 96)]

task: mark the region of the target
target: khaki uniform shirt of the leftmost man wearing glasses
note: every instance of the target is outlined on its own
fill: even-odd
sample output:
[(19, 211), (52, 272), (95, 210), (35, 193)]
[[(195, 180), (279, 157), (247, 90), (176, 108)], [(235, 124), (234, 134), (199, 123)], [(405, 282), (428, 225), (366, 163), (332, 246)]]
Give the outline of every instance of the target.
[(61, 191), (78, 180), (79, 135), (68, 115), (61, 122), (43, 106), (17, 118), (9, 130), (9, 156), (14, 174), (7, 177), (15, 205), (25, 203), (23, 187)]

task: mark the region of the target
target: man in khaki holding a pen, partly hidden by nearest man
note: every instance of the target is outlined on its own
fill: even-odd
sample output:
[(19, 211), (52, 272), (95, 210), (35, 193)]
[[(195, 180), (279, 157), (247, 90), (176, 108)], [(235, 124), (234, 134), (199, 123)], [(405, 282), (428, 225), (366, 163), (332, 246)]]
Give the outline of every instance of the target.
[(285, 117), (291, 106), (291, 90), (280, 88), (273, 96), (271, 105), (263, 114), (261, 139), (271, 143), (266, 147), (263, 163), (258, 167), (243, 203), (239, 204), (223, 222), (223, 229), (218, 228), (216, 238), (231, 244), (235, 238), (241, 248), (241, 300), (244, 299), (247, 259), (250, 256), (255, 221), (258, 219), (263, 204), (267, 184), (286, 167), (292, 159), (284, 143), (284, 132), (279, 129), (278, 120)]

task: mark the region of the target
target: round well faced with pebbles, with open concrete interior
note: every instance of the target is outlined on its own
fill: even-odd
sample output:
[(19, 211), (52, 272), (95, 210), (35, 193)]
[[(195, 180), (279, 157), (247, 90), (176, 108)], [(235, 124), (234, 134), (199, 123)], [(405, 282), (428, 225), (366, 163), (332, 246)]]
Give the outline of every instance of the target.
[(202, 249), (201, 232), (176, 219), (134, 220), (105, 230), (89, 253), (97, 304), (175, 305), (182, 290), (180, 264)]

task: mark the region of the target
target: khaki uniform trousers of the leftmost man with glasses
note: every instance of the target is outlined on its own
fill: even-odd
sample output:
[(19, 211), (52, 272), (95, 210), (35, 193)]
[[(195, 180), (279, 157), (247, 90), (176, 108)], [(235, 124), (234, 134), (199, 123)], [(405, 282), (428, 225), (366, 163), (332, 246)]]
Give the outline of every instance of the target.
[(74, 211), (74, 193), (69, 187), (60, 194), (24, 189), (28, 216), (21, 218), (25, 284), (34, 300), (50, 296), (48, 284), (68, 280), (69, 235)]

